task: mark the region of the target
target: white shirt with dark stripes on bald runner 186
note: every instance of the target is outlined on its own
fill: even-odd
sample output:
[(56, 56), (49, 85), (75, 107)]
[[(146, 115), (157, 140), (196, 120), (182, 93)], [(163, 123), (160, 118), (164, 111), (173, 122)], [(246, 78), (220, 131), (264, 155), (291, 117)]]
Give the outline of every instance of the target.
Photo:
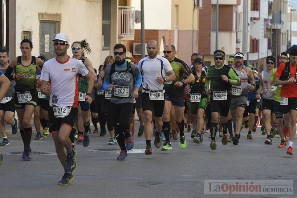
[[(161, 65), (163, 65), (162, 71)], [(157, 77), (159, 76), (165, 78), (166, 72), (172, 70), (172, 67), (166, 58), (157, 55), (155, 59), (149, 59), (149, 56), (141, 59), (138, 63), (138, 69), (142, 72), (143, 88), (157, 91), (163, 89), (164, 87), (163, 83), (160, 84), (156, 81)]]

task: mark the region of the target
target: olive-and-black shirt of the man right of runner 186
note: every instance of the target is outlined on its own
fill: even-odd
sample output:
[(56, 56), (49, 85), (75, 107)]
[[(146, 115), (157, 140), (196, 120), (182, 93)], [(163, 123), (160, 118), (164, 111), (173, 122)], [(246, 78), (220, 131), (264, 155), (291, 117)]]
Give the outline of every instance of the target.
[(192, 71), (184, 61), (176, 57), (170, 62), (170, 65), (175, 73), (175, 80), (171, 84), (164, 83), (166, 94), (170, 96), (184, 96), (184, 87), (176, 87), (174, 83), (183, 80), (184, 75), (189, 76)]

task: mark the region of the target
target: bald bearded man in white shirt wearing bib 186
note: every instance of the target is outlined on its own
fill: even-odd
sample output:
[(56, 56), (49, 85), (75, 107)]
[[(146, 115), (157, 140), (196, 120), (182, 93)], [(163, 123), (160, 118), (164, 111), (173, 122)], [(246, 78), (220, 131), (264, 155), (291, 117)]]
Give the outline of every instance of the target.
[[(151, 149), (151, 121), (152, 111), (154, 111), (156, 133), (154, 144), (161, 147), (162, 115), (164, 111), (164, 82), (173, 81), (175, 74), (169, 61), (158, 55), (158, 43), (150, 40), (147, 44), (149, 56), (141, 59), (138, 69), (143, 76), (142, 108), (144, 111), (144, 134), (146, 137), (145, 154), (153, 154)], [(167, 73), (167, 76), (166, 76)]]

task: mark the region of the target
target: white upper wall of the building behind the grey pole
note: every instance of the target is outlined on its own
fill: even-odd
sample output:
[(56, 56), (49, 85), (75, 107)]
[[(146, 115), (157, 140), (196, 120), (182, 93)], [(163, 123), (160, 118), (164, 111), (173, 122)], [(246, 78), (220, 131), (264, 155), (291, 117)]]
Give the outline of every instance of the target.
[[(140, 0), (131, 0), (131, 6), (140, 11)], [(145, 29), (171, 29), (171, 0), (145, 0), (144, 7)], [(135, 24), (135, 29), (140, 26)]]

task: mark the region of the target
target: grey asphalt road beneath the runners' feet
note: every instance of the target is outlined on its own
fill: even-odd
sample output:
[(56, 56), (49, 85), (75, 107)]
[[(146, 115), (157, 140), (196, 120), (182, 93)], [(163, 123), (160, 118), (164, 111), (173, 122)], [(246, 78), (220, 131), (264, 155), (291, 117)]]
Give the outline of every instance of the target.
[[(185, 134), (186, 149), (172, 141), (173, 150), (161, 151), (153, 145), (154, 154), (149, 156), (144, 155), (144, 135), (136, 134), (133, 152), (125, 161), (116, 160), (119, 146), (107, 144), (109, 135), (92, 134), (89, 147), (75, 145), (77, 168), (69, 186), (57, 185), (64, 170), (50, 136), (40, 141), (32, 137), (32, 152), (37, 153), (31, 161), (21, 160), (20, 137), (10, 138), (9, 146), (0, 147), (4, 157), (0, 197), (297, 197), (296, 144), (289, 156), (286, 147), (277, 147), (279, 138), (272, 139), (272, 145), (264, 144), (265, 136), (258, 128), (252, 133), (253, 140), (246, 139), (244, 129), (238, 146), (224, 146), (217, 138), (217, 150), (211, 150), (209, 133), (204, 134), (202, 144), (195, 144), (190, 133)], [(206, 195), (204, 180), (210, 179), (293, 180), (294, 194)]]

